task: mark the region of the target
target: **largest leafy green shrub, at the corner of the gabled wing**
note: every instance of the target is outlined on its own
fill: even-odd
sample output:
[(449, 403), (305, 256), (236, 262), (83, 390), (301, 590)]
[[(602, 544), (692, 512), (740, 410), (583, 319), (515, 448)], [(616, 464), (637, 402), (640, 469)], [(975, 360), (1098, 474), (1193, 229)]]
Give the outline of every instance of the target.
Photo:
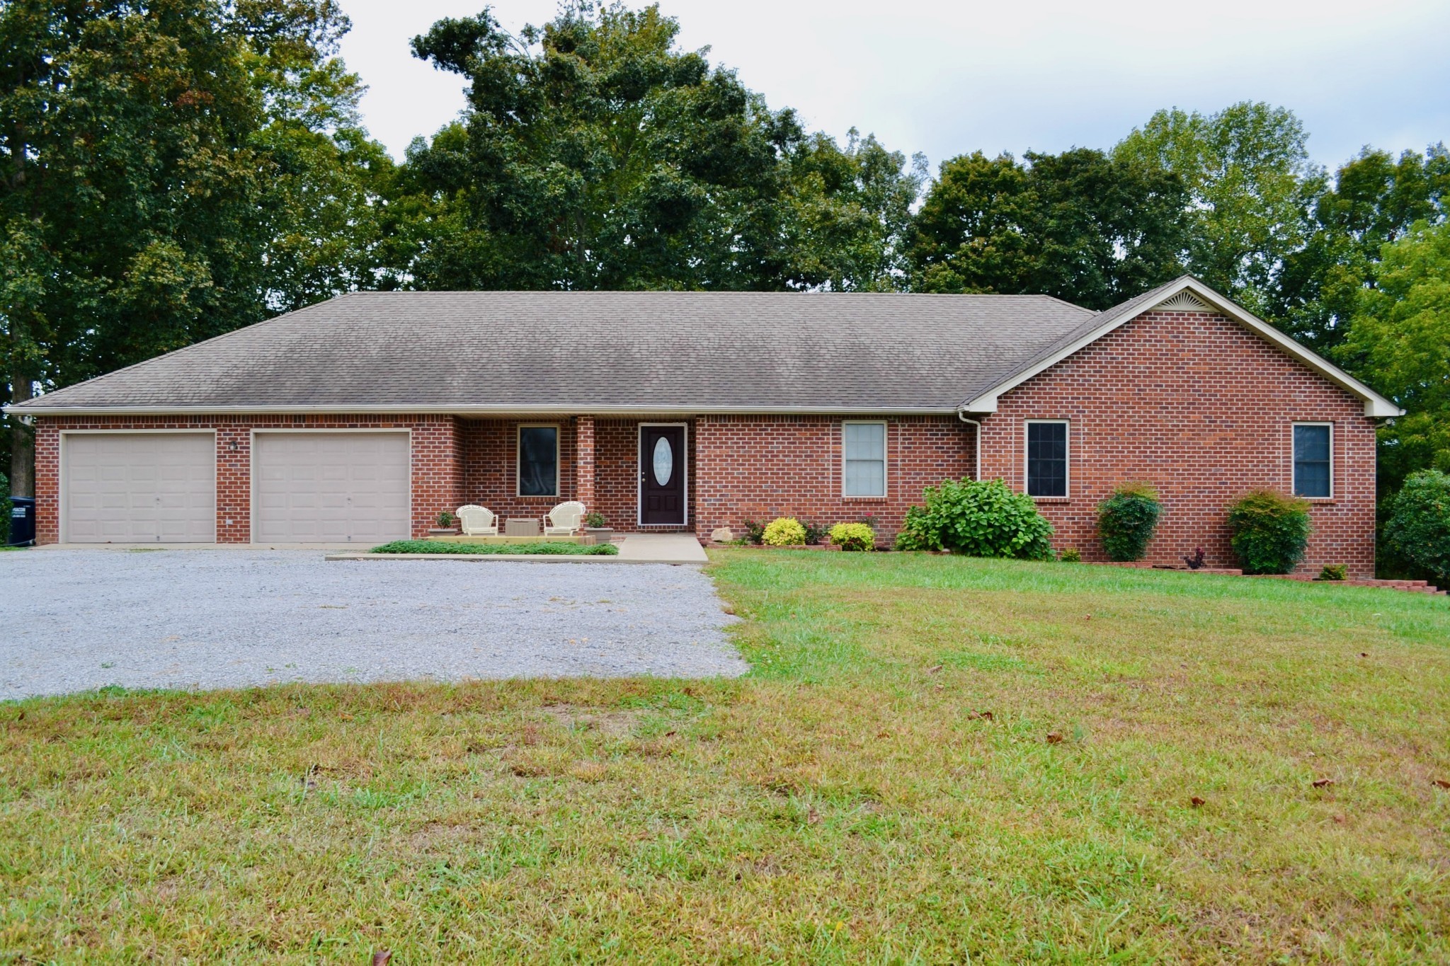
[(1031, 497), (1000, 479), (947, 479), (922, 492), (925, 507), (906, 510), (899, 550), (951, 550), (967, 556), (1047, 560), (1053, 524)]

